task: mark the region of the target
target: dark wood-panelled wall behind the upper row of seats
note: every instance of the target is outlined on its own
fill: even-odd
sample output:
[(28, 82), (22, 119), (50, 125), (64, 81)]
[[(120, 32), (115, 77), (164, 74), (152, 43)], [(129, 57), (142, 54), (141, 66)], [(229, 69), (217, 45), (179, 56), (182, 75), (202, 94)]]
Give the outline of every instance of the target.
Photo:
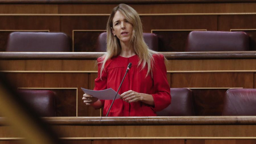
[[(161, 52), (185, 51), (192, 30), (245, 31), (251, 38), (250, 50), (256, 50), (256, 2), (125, 2), (140, 14), (143, 31), (158, 35)], [(106, 30), (111, 10), (119, 2), (52, 3), (0, 1), (0, 51), (6, 50), (12, 31), (46, 30), (68, 34), (74, 52), (93, 52), (98, 35)]]

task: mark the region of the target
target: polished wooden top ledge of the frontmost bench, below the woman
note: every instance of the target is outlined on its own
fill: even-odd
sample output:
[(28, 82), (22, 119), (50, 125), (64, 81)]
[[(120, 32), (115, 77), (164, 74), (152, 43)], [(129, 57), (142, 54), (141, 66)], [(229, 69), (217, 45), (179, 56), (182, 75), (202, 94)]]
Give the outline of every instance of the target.
[[(3, 120), (5, 118), (2, 118)], [(255, 125), (255, 116), (44, 117), (51, 125)], [(3, 125), (4, 121), (0, 121)]]

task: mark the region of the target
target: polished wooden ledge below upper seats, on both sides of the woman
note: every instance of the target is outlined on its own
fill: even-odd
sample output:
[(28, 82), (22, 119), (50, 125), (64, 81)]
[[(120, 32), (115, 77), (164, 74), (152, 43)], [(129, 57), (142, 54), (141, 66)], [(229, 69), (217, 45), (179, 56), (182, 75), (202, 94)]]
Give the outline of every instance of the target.
[[(234, 52), (161, 52), (167, 60), (248, 60), (255, 51)], [(105, 52), (0, 52), (1, 60), (96, 60)], [(234, 63), (237, 64), (237, 63)]]

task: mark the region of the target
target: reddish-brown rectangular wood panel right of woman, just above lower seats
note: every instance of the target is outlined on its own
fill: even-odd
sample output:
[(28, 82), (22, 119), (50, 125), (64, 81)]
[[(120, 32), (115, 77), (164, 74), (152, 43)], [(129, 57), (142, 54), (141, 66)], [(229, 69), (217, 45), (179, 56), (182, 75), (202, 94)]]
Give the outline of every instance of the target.
[(253, 88), (253, 73), (171, 73), (171, 87)]

